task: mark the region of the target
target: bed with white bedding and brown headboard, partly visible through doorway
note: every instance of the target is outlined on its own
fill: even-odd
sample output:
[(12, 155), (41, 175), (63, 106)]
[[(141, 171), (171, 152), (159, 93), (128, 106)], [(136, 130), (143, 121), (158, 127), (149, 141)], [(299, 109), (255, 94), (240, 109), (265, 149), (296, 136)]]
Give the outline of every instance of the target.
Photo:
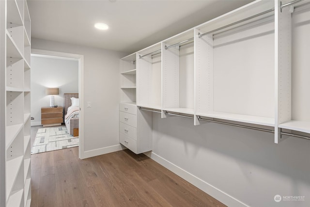
[[(70, 135), (78, 136), (78, 94), (64, 94), (64, 124)], [(75, 133), (74, 133), (75, 132)]]

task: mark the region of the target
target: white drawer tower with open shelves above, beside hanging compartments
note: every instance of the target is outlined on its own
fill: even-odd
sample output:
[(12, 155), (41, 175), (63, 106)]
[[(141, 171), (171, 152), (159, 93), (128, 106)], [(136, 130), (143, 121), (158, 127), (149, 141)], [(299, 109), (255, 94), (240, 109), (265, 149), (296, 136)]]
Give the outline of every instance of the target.
[(120, 137), (122, 145), (136, 154), (152, 150), (152, 112), (137, 108), (137, 54), (121, 59)]

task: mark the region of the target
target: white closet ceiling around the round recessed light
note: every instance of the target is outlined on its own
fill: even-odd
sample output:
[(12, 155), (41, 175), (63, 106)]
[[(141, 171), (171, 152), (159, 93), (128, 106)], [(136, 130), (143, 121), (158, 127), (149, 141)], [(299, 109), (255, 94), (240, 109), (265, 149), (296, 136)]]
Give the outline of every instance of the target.
[(28, 0), (28, 7), (32, 38), (132, 53), (251, 1)]

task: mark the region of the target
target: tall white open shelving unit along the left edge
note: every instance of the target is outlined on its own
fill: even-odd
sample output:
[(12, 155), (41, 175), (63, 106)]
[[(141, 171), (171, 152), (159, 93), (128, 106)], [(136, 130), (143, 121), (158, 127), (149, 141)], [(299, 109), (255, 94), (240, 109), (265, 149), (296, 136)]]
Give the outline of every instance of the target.
[[(1, 130), (1, 151), (5, 151), (5, 191), (1, 205), (30, 207), (31, 203), (31, 143), (30, 143), (30, 53), (31, 20), (24, 0), (1, 1), (1, 68), (5, 68), (5, 127)], [(5, 18), (6, 14), (6, 18)], [(2, 69), (1, 69), (2, 70)], [(4, 98), (5, 96), (5, 98)], [(3, 103), (1, 103), (2, 105)], [(1, 168), (2, 169), (2, 168)], [(3, 193), (3, 194), (2, 194)]]

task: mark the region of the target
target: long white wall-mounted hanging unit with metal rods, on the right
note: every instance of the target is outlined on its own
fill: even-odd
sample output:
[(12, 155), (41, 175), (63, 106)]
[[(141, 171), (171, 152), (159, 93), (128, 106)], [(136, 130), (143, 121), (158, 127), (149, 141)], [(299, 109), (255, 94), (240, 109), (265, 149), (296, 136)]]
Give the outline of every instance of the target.
[(309, 16), (256, 0), (138, 51), (138, 111), (310, 139)]

